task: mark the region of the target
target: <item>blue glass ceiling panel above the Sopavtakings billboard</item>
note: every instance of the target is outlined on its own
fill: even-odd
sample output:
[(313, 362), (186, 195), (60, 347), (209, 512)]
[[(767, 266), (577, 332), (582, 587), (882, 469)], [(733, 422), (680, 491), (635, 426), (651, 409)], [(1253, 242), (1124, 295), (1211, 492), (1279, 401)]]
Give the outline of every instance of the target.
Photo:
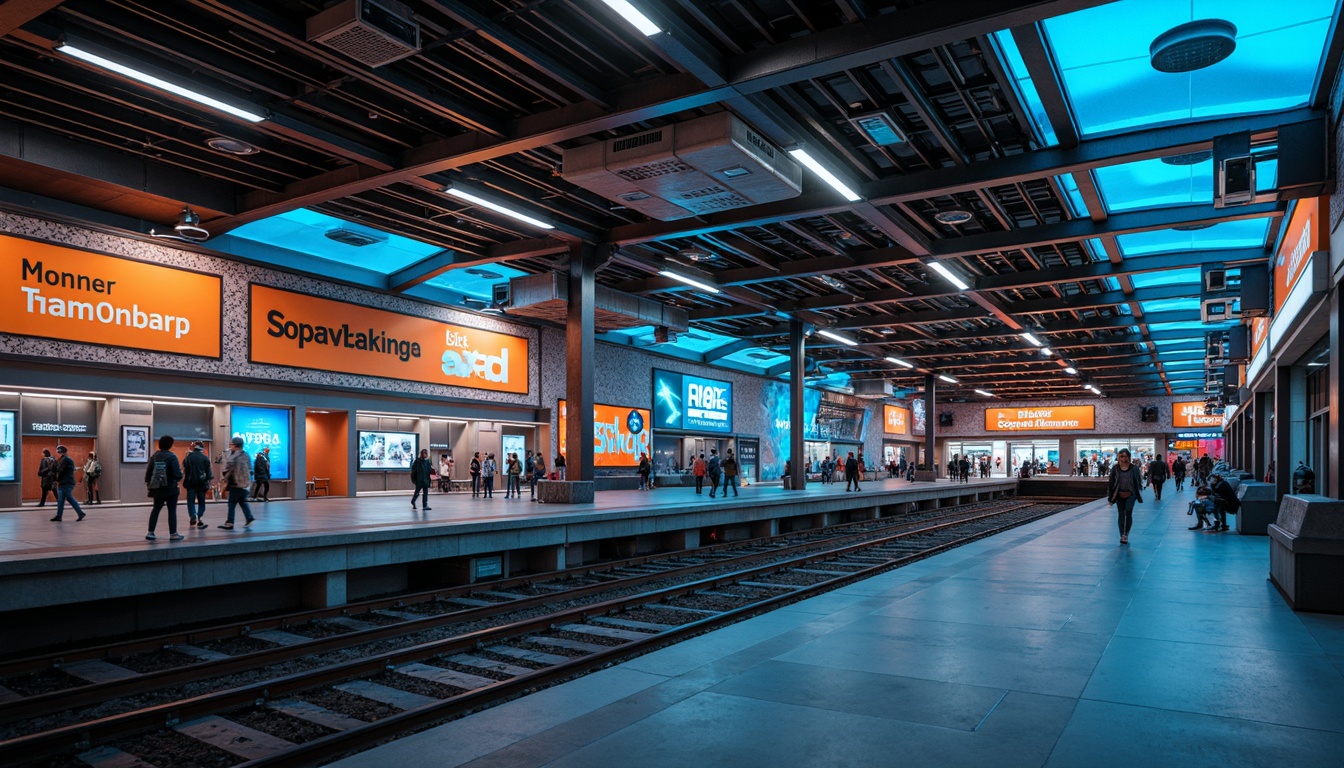
[[(239, 239), (249, 239), (271, 247), (282, 247), (313, 258), (363, 266), (364, 269), (372, 269), (383, 274), (396, 272), (444, 250), (437, 245), (386, 233), (308, 208), (286, 211), (251, 222), (228, 234)], [(332, 239), (333, 237), (343, 238), (345, 242)], [(351, 242), (364, 242), (367, 245), (351, 245)], [(313, 264), (312, 272), (321, 272), (321, 264)]]

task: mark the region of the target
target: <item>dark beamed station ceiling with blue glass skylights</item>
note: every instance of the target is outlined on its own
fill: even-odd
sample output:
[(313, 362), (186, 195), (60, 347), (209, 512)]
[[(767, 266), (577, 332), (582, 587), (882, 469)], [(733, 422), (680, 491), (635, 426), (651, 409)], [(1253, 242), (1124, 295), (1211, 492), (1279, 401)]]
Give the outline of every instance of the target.
[[(809, 342), (829, 383), (1198, 397), (1203, 334), (1227, 327), (1202, 323), (1200, 266), (1270, 258), (1278, 129), (1327, 116), (1340, 54), (1335, 0), (630, 4), (660, 31), (603, 0), (383, 3), (419, 50), (368, 66), (309, 40), (340, 3), (8, 0), (0, 202), (138, 234), (185, 204), (202, 247), (468, 309), (609, 245), (601, 284), (692, 321), (617, 343), (780, 375), (801, 317), (853, 342)], [(1230, 56), (1153, 67), (1156, 38), (1211, 17)], [(656, 221), (562, 178), (566, 149), (722, 112), (859, 199), (804, 171), (797, 196)], [(1258, 194), (1214, 207), (1212, 139), (1243, 132)]]

